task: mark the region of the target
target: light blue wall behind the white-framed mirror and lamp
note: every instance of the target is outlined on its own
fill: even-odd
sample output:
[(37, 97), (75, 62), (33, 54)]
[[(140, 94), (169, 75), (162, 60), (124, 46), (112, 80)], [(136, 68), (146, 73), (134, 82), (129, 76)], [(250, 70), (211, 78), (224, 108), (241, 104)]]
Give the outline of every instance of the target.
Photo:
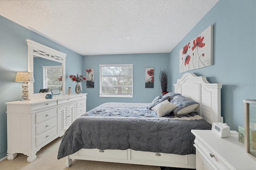
[[(14, 81), (17, 71), (28, 71), (26, 39), (66, 53), (66, 79), (69, 73), (82, 72), (82, 55), (0, 16), (0, 159), (7, 154), (6, 105), (4, 103), (22, 98), (23, 83)], [(66, 87), (71, 85), (74, 84), (67, 81)]]

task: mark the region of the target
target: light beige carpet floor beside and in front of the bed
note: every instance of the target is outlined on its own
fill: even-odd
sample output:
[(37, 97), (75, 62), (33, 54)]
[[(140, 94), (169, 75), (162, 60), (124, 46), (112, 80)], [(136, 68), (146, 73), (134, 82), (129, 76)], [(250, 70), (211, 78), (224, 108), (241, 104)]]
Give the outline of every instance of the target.
[(69, 168), (65, 167), (66, 158), (57, 159), (61, 138), (57, 138), (37, 152), (33, 162), (27, 162), (27, 156), (18, 154), (14, 160), (0, 162), (0, 170), (160, 170), (159, 166), (119, 164), (88, 160), (73, 160)]

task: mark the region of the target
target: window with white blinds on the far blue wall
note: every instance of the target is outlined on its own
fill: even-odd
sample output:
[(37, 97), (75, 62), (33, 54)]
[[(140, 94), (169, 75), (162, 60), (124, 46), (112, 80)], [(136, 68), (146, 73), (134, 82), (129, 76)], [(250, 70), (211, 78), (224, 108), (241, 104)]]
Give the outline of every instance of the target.
[(132, 64), (100, 65), (100, 97), (132, 97)]

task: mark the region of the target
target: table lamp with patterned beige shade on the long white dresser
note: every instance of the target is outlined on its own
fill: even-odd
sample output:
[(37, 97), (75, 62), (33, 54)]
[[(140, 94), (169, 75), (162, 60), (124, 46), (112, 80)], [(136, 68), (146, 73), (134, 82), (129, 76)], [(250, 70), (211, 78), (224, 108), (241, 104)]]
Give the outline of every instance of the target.
[(22, 95), (22, 100), (20, 101), (29, 101), (28, 99), (28, 82), (34, 82), (34, 77), (31, 72), (24, 72), (24, 71), (18, 71), (16, 74), (16, 79), (15, 82), (24, 82), (22, 85), (23, 88), (23, 95)]

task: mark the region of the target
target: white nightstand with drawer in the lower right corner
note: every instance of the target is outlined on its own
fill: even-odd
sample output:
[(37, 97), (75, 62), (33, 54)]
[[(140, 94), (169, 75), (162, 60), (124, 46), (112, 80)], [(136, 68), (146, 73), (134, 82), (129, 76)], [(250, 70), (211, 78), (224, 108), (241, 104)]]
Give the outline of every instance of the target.
[(255, 170), (256, 161), (245, 151), (238, 140), (238, 132), (220, 138), (212, 130), (191, 130), (196, 136), (197, 170)]

